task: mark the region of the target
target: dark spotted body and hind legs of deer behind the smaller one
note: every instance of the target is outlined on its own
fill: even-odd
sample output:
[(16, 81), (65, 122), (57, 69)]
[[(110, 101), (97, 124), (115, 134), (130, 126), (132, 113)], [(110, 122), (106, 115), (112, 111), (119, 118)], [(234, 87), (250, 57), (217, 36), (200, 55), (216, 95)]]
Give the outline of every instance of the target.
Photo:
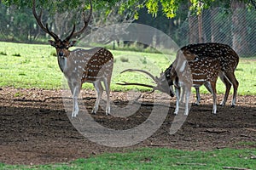
[[(219, 77), (226, 87), (226, 91), (224, 94), (224, 99), (220, 103), (220, 105), (225, 105), (228, 96), (230, 94), (231, 85), (234, 88), (233, 99), (231, 102), (231, 107), (236, 105), (236, 95), (237, 88), (239, 82), (236, 80), (235, 71), (236, 66), (239, 62), (239, 56), (236, 52), (230, 48), (229, 45), (217, 43), (217, 42), (208, 42), (208, 43), (198, 43), (198, 44), (189, 44), (181, 48), (183, 54), (195, 54), (198, 58), (211, 57), (218, 59), (221, 65), (221, 72)], [(191, 56), (190, 56), (191, 58)], [(199, 88), (195, 88), (196, 90), (196, 104), (200, 103), (200, 94)], [(209, 89), (208, 89), (209, 90)]]

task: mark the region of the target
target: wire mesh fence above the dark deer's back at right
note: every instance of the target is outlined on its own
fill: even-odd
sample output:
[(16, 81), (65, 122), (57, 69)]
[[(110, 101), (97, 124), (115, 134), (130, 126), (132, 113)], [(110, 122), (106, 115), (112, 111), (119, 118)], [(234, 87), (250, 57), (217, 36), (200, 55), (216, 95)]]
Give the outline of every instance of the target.
[[(256, 55), (256, 11), (227, 12), (223, 8), (204, 10), (201, 16), (190, 15), (179, 27), (179, 46), (198, 42), (221, 42), (230, 45), (241, 56)], [(201, 39), (201, 41), (200, 41)]]

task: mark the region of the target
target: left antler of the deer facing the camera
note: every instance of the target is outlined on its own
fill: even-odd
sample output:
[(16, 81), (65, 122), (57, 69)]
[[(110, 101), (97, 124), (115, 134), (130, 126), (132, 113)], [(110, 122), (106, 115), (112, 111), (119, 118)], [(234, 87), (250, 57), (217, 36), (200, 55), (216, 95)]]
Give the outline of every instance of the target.
[(35, 19), (38, 22), (38, 26), (40, 26), (44, 32), (48, 33), (51, 37), (53, 37), (55, 39), (55, 41), (58, 41), (60, 38), (54, 32), (49, 31), (48, 24), (46, 24), (46, 26), (44, 26), (44, 24), (42, 23), (42, 14), (43, 14), (43, 9), (42, 8), (41, 8), (40, 14), (38, 16), (37, 11), (36, 11), (36, 2), (35, 2), (35, 0), (33, 0), (32, 11), (33, 11)]

